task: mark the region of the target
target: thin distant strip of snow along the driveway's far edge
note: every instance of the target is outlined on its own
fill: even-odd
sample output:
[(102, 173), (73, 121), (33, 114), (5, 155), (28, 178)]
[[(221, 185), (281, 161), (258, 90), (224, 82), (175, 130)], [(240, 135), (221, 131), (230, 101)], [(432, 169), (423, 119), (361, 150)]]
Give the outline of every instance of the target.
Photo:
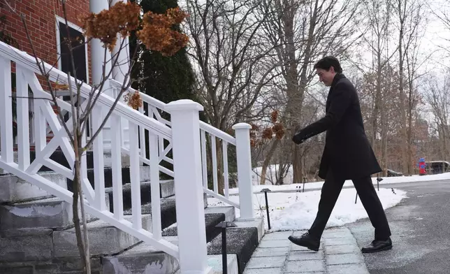
[[(436, 175), (412, 175), (412, 176), (399, 176), (399, 177), (385, 177), (383, 180), (379, 183), (380, 185), (385, 184), (394, 184), (399, 182), (427, 182), (427, 181), (435, 181), (435, 180), (449, 180), (450, 182), (450, 173), (442, 173), (442, 174), (436, 174)], [(285, 180), (288, 182), (287, 180)], [(377, 185), (377, 178), (372, 178), (372, 182), (374, 185)], [(273, 192), (296, 192), (300, 191), (300, 189), (303, 189), (303, 184), (290, 184), (290, 185), (257, 185), (259, 182), (253, 182), (253, 190), (254, 193), (261, 192), (261, 189), (268, 188)], [(305, 184), (305, 189), (321, 189), (322, 185), (324, 185), (324, 182), (307, 182)], [(347, 186), (353, 186), (353, 183), (351, 180), (347, 180), (344, 183), (344, 187)], [(230, 194), (238, 194), (239, 189), (233, 188), (229, 190)]]

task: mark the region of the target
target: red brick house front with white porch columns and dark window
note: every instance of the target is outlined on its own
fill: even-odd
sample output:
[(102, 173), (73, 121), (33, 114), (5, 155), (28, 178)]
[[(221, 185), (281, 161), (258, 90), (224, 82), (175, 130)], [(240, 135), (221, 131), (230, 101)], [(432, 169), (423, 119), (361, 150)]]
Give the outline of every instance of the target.
[[(80, 16), (87, 15), (89, 12), (99, 13), (103, 9), (108, 9), (110, 4), (110, 0), (66, 0), (65, 16), (61, 0), (6, 1), (15, 9), (15, 12), (10, 10), (5, 1), (0, 1), (0, 15), (6, 18), (5, 33), (10, 34), (17, 41), (20, 50), (34, 55), (32, 49), (34, 48), (37, 57), (63, 72), (72, 71), (68, 47), (64, 43), (64, 41), (67, 41), (66, 38), (77, 43), (76, 45), (80, 44), (75, 38), (81, 38), (84, 41)], [(118, 1), (126, 2), (126, 0), (113, 0), (112, 4)], [(27, 28), (24, 27), (24, 23), (18, 14), (24, 15)], [(67, 26), (65, 18), (68, 21)], [(27, 29), (31, 37), (31, 43), (27, 38)], [(125, 79), (122, 71), (128, 71), (129, 57), (127, 51), (127, 48), (122, 50), (117, 57), (120, 66), (113, 68), (112, 77), (115, 80)], [(109, 52), (105, 52), (100, 41), (94, 40), (89, 45), (78, 46), (73, 52), (77, 78), (88, 83), (99, 83), (103, 77), (103, 57), (105, 54), (109, 55)], [(106, 59), (110, 59), (110, 57), (107, 56)], [(45, 89), (45, 82), (41, 81), (41, 84)], [(111, 91), (106, 91), (106, 94), (114, 96)], [(64, 94), (61, 95), (64, 96)], [(128, 126), (124, 123), (122, 127), (126, 130)], [(107, 124), (105, 129), (108, 128)], [(51, 133), (48, 134), (48, 138), (52, 138)], [(106, 139), (106, 147), (110, 143), (108, 138), (104, 138)]]

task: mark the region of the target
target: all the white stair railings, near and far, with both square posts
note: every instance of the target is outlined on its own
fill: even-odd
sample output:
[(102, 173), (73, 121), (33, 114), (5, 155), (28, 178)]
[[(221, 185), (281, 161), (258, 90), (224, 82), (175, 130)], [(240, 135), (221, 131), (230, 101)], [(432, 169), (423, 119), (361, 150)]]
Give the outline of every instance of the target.
[[(44, 64), (50, 80), (68, 84), (67, 75)], [(11, 72), (15, 68), (17, 91), (17, 154), (15, 160), (13, 147), (13, 117), (12, 117), (12, 89)], [(0, 168), (12, 173), (22, 180), (31, 182), (46, 192), (71, 203), (72, 193), (64, 187), (43, 178), (38, 170), (42, 166), (51, 168), (56, 173), (73, 180), (73, 163), (75, 153), (70, 143), (70, 137), (59, 122), (55, 110), (52, 108), (50, 94), (41, 86), (38, 76), (41, 72), (34, 57), (0, 42), (0, 85), (3, 92), (0, 97)], [(73, 79), (70, 81), (75, 82)], [(117, 82), (110, 81), (110, 87), (117, 87)], [(29, 99), (29, 87), (33, 98)], [(92, 87), (83, 84), (82, 99), (88, 99)], [(251, 156), (249, 146), (249, 125), (236, 124), (235, 138), (198, 119), (198, 112), (203, 107), (190, 100), (180, 100), (168, 104), (157, 101), (142, 94), (150, 115), (144, 115), (143, 110), (137, 111), (123, 103), (118, 103), (113, 115), (110, 116), (111, 137), (111, 168), (113, 170), (113, 204), (114, 213), (106, 208), (106, 194), (103, 163), (103, 132), (94, 140), (92, 151), (94, 154), (94, 187), (87, 179), (86, 154), (82, 156), (82, 189), (85, 194), (86, 210), (89, 214), (102, 219), (104, 222), (116, 226), (127, 233), (153, 245), (174, 257), (180, 259), (181, 273), (208, 273), (207, 250), (205, 241), (205, 219), (203, 208), (203, 192), (215, 196), (222, 201), (240, 208), (242, 219), (254, 217), (252, 203)], [(32, 124), (29, 124), (29, 101), (34, 106)], [(62, 110), (69, 113), (67, 122), (71, 129), (71, 106), (59, 100)], [(113, 106), (114, 99), (106, 94), (99, 96), (99, 101), (93, 108), (92, 130), (99, 128), (106, 112)], [(83, 103), (82, 103), (83, 106)], [(85, 106), (85, 104), (84, 104)], [(170, 120), (164, 120), (161, 112), (170, 113)], [(129, 147), (124, 147), (121, 122), (129, 124)], [(46, 134), (51, 129), (54, 137), (47, 143)], [(145, 153), (145, 134), (148, 135), (149, 145)], [(206, 175), (206, 136), (211, 137), (213, 189), (208, 189)], [(32, 136), (32, 137), (31, 137)], [(217, 189), (217, 157), (215, 155), (215, 140), (222, 142), (224, 151), (224, 165), (222, 167), (225, 178), (225, 193), (219, 194)], [(165, 143), (164, 144), (164, 140)], [(34, 142), (36, 159), (30, 161), (30, 143)], [(86, 143), (86, 138), (83, 138)], [(228, 196), (228, 145), (236, 146), (236, 161), (238, 166), (238, 185), (240, 188), (240, 203), (233, 203)], [(52, 161), (50, 155), (60, 147), (64, 153), (69, 168)], [(168, 157), (172, 151), (173, 158)], [(131, 175), (131, 221), (124, 219), (122, 203), (122, 153), (129, 154)], [(173, 168), (161, 166), (166, 161)], [(140, 166), (150, 166), (152, 190), (152, 228), (147, 231), (142, 228), (140, 201)], [(175, 203), (177, 208), (178, 245), (164, 240), (161, 236), (161, 201), (159, 193), (159, 171), (170, 175), (175, 180)], [(192, 252), (196, 247), (197, 252)]]

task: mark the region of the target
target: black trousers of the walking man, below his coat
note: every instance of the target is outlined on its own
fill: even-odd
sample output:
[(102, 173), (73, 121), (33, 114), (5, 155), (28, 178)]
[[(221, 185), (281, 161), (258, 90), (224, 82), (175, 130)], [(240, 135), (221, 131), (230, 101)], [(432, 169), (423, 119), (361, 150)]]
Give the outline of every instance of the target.
[[(391, 229), (389, 229), (382, 203), (379, 201), (377, 192), (373, 187), (372, 178), (366, 176), (352, 181), (356, 192), (358, 192), (359, 199), (361, 199), (361, 203), (363, 203), (365, 211), (368, 213), (370, 222), (375, 227), (375, 240), (387, 240), (391, 236)], [(322, 187), (319, 211), (309, 231), (311, 236), (321, 238), (344, 182), (344, 179), (339, 179), (332, 172), (328, 172)]]

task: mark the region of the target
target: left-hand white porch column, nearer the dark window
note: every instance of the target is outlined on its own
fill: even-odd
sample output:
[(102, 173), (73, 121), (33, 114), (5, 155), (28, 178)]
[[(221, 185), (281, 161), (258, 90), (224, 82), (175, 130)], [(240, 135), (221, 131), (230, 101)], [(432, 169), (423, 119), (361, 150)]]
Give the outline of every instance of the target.
[[(92, 13), (99, 13), (101, 10), (108, 10), (109, 3), (108, 0), (89, 0), (89, 10)], [(103, 65), (105, 65), (105, 71), (108, 73), (111, 69), (111, 63), (104, 63), (105, 58), (105, 48), (103, 48), (103, 43), (99, 39), (92, 39), (91, 41), (91, 66), (92, 66), (92, 84), (97, 85), (101, 82), (103, 76)], [(111, 59), (110, 52), (106, 52), (106, 61)], [(105, 94), (109, 96), (114, 96), (113, 89), (109, 89), (109, 85), (104, 87), (106, 90)], [(103, 127), (103, 147), (105, 150), (111, 149), (111, 126), (110, 121), (106, 122), (105, 127)]]

